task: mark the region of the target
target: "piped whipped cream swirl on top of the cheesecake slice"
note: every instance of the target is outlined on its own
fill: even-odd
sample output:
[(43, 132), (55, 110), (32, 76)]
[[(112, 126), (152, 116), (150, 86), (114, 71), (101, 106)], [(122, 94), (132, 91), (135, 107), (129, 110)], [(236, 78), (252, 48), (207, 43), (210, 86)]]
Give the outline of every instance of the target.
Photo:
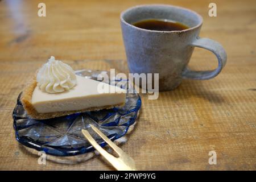
[(77, 84), (73, 69), (53, 56), (39, 69), (36, 82), (43, 92), (48, 93), (64, 92)]

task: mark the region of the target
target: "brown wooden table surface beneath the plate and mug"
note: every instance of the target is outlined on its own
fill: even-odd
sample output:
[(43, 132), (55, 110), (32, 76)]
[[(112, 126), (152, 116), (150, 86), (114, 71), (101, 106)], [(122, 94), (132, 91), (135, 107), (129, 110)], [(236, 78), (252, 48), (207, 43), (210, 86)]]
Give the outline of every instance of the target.
[[(47, 16), (39, 17), (38, 3)], [(142, 94), (137, 126), (122, 149), (142, 170), (256, 169), (256, 1), (139, 1), (170, 3), (204, 18), (201, 37), (228, 53), (224, 71), (207, 81), (184, 80), (158, 100)], [(73, 165), (38, 164), (15, 140), (12, 111), (27, 78), (53, 55), (74, 69), (127, 72), (119, 13), (137, 1), (0, 1), (0, 169), (110, 169), (100, 157)], [(112, 60), (112, 61), (109, 61)], [(216, 58), (196, 48), (194, 69), (216, 67)], [(208, 163), (209, 151), (217, 164)]]

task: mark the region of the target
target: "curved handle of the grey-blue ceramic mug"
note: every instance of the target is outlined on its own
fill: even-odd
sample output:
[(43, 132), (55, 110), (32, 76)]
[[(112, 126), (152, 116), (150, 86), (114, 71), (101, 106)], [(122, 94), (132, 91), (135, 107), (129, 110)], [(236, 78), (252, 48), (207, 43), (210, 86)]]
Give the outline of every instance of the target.
[(189, 44), (189, 46), (200, 47), (213, 52), (218, 59), (218, 68), (210, 71), (192, 71), (187, 67), (182, 73), (183, 78), (208, 80), (210, 78), (216, 77), (218, 73), (221, 72), (221, 69), (224, 68), (226, 64), (226, 52), (220, 43), (212, 39), (197, 37), (191, 44)]

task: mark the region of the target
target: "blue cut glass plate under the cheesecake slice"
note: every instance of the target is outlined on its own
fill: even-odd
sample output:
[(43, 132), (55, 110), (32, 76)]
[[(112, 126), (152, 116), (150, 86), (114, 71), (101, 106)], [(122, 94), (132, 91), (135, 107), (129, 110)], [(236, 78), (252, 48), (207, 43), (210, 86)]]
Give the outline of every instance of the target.
[[(97, 80), (101, 71), (80, 70), (77, 75)], [(109, 75), (109, 72), (103, 72)], [(127, 82), (109, 78), (110, 82)], [(118, 84), (122, 85), (122, 84)], [(127, 89), (133, 89), (127, 86)], [(126, 94), (122, 107), (66, 115), (64, 117), (36, 120), (30, 118), (20, 102), (20, 95), (13, 111), (16, 140), (26, 147), (44, 151), (55, 156), (73, 156), (94, 151), (94, 148), (81, 133), (86, 129), (104, 147), (106, 143), (89, 126), (96, 126), (108, 138), (115, 140), (123, 137), (129, 126), (133, 125), (141, 108), (141, 98), (135, 90)]]

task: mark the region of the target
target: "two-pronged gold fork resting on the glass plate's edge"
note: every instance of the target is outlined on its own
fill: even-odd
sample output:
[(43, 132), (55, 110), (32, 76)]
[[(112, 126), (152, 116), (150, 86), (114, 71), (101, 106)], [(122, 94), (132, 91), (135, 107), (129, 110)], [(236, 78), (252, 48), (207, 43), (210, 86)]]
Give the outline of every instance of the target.
[(114, 144), (114, 142), (112, 142), (112, 140), (110, 140), (108, 137), (106, 137), (103, 133), (101, 133), (100, 130), (98, 130), (95, 126), (90, 125), (90, 127), (92, 127), (92, 129), (102, 138), (104, 139), (104, 141), (106, 143), (109, 144), (109, 146), (111, 148), (113, 148), (113, 150), (115, 152), (117, 152), (118, 154), (118, 158), (116, 158), (115, 156), (109, 154), (107, 151), (105, 151), (97, 142), (96, 140), (94, 140), (92, 138), (92, 136), (89, 134), (89, 132), (87, 130), (82, 130), (82, 134), (84, 134), (85, 138), (90, 142), (90, 144), (92, 144), (92, 146), (98, 151), (100, 152), (100, 154), (102, 156), (104, 156), (104, 158), (106, 160), (108, 160), (108, 162), (110, 164), (112, 164), (114, 166), (115, 169), (117, 169), (118, 171), (135, 171), (137, 170), (135, 167), (135, 163), (134, 160), (132, 158), (130, 158), (130, 156), (128, 156), (124, 151), (122, 151), (121, 148), (119, 148), (117, 145)]

